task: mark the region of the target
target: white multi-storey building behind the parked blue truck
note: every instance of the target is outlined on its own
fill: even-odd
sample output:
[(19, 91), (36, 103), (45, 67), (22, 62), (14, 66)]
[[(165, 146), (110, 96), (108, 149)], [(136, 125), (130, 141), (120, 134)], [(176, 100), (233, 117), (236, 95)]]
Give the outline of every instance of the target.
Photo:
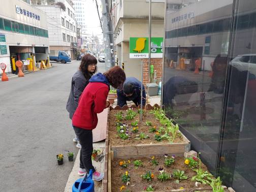
[[(34, 2), (31, 1), (31, 4)], [(50, 55), (56, 56), (59, 51), (64, 51), (75, 59), (78, 50), (73, 1), (59, 0), (58, 3), (49, 3), (36, 0), (34, 6), (47, 14)]]

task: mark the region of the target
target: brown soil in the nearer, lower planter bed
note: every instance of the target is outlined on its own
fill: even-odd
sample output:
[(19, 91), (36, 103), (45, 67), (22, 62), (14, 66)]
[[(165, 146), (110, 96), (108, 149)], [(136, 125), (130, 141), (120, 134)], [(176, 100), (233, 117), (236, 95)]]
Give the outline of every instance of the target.
[[(133, 162), (140, 159), (143, 162), (143, 167), (135, 169)], [(170, 167), (164, 166), (165, 157), (164, 156), (155, 156), (155, 159), (158, 162), (158, 166), (151, 165), (150, 158), (130, 158), (131, 164), (127, 168), (122, 168), (119, 165), (120, 161), (126, 161), (129, 159), (114, 159), (111, 162), (111, 186), (112, 191), (120, 191), (120, 187), (125, 185), (125, 189), (129, 191), (144, 191), (144, 187), (152, 185), (154, 190), (161, 191), (170, 191), (172, 189), (179, 189), (180, 187), (189, 189), (189, 191), (194, 191), (196, 189), (195, 181), (191, 181), (191, 178), (196, 175), (196, 172), (191, 170), (188, 166), (184, 164), (183, 157), (175, 157), (175, 162)], [(170, 179), (167, 181), (161, 182), (157, 179), (157, 176), (160, 174), (158, 169), (163, 167), (164, 171), (168, 174), (172, 174), (173, 170), (185, 171), (185, 175), (188, 176), (187, 180), (181, 180), (179, 184), (175, 183), (176, 179)], [(203, 170), (207, 170), (206, 166), (201, 164)], [(121, 175), (125, 174), (125, 171), (128, 171), (131, 176), (131, 183), (126, 186), (126, 183), (122, 183)], [(154, 174), (152, 181), (147, 181), (141, 178), (141, 175), (144, 175), (146, 171), (151, 171)], [(209, 188), (209, 185), (199, 184), (198, 187)], [(211, 188), (211, 187), (210, 187)], [(125, 191), (125, 190), (124, 190)]]

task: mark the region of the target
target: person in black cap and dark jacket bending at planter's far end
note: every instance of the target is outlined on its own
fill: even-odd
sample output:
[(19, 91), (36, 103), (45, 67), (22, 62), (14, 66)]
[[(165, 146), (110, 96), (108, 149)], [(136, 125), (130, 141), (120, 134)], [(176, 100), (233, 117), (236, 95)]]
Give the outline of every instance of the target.
[[(142, 105), (146, 104), (146, 91), (143, 85)], [(133, 101), (136, 106), (141, 104), (141, 82), (135, 77), (127, 77), (122, 89), (117, 89), (117, 105), (127, 105), (126, 101)]]

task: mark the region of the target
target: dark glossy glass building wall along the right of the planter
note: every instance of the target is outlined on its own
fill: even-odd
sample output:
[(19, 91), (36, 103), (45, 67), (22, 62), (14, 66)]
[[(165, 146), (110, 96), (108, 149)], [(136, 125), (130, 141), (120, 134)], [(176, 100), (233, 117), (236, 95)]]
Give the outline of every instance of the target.
[(256, 4), (166, 1), (163, 106), (235, 191), (256, 191)]

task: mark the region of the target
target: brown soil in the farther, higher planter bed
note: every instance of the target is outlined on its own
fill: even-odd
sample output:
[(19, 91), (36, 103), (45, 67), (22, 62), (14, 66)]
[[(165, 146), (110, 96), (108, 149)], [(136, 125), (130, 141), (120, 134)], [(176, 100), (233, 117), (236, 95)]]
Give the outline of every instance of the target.
[[(109, 114), (109, 144), (110, 145), (136, 145), (136, 144), (152, 144), (152, 143), (170, 143), (168, 140), (164, 140), (161, 142), (157, 142), (154, 139), (154, 135), (155, 133), (149, 133), (149, 129), (153, 126), (156, 126), (156, 130), (159, 129), (160, 126), (163, 126), (155, 117), (154, 114), (149, 113), (149, 111), (147, 112), (146, 115), (143, 116), (142, 122), (138, 123), (139, 126), (139, 132), (138, 133), (132, 133), (132, 135), (130, 135), (130, 138), (127, 140), (122, 140), (121, 138), (119, 138), (117, 131), (116, 131), (116, 117), (115, 114), (122, 111), (123, 112), (123, 120), (121, 120), (120, 122), (122, 123), (126, 123), (129, 126), (129, 135), (132, 133), (132, 129), (133, 126), (131, 125), (132, 122), (135, 122), (136, 120), (139, 121), (140, 115), (138, 113), (138, 115), (136, 115), (134, 117), (134, 119), (132, 120), (126, 120), (125, 119), (125, 115), (126, 115), (126, 111), (125, 110), (112, 110), (110, 111)], [(135, 112), (137, 113), (137, 110), (135, 110)], [(147, 126), (145, 125), (146, 121), (151, 121), (152, 125), (151, 126)], [(149, 138), (148, 139), (135, 139), (136, 135), (139, 135), (141, 132), (143, 132), (144, 134), (148, 135)], [(176, 138), (174, 140), (174, 143), (182, 143), (183, 139), (182, 138)]]

